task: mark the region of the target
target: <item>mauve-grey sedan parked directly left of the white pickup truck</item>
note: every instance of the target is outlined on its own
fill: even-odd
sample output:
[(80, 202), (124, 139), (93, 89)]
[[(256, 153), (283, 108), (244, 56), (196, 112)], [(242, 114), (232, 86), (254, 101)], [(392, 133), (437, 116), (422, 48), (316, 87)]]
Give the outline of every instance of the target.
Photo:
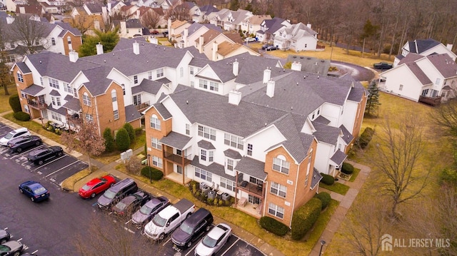
[(152, 197), (152, 199), (144, 204), (140, 210), (137, 210), (131, 216), (131, 222), (133, 222), (137, 227), (142, 227), (169, 204), (170, 200), (164, 196), (159, 198)]

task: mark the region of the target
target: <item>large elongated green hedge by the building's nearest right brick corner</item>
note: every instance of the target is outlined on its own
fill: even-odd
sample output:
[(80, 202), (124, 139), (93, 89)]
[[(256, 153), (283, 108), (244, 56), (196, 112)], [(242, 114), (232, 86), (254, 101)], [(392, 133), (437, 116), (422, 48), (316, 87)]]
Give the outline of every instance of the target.
[(318, 198), (311, 198), (305, 205), (293, 212), (292, 216), (292, 239), (301, 240), (306, 232), (311, 230), (321, 214), (322, 202)]

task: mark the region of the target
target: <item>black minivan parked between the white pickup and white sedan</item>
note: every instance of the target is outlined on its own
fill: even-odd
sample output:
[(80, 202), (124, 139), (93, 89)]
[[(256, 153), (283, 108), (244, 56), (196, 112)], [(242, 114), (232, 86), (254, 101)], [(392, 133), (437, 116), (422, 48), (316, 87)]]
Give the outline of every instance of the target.
[(191, 247), (192, 242), (211, 229), (211, 224), (213, 224), (213, 215), (209, 210), (200, 208), (174, 230), (171, 241), (179, 247)]

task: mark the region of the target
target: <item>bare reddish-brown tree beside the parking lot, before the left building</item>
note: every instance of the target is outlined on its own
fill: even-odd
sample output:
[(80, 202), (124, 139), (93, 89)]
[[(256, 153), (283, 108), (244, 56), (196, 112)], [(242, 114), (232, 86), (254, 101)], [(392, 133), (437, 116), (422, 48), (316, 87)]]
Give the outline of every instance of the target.
[(89, 172), (92, 171), (91, 157), (101, 155), (105, 150), (105, 139), (99, 135), (96, 123), (86, 121), (85, 118), (70, 118), (76, 127), (76, 132), (62, 133), (61, 141), (71, 150), (78, 150), (86, 155), (89, 163)]

